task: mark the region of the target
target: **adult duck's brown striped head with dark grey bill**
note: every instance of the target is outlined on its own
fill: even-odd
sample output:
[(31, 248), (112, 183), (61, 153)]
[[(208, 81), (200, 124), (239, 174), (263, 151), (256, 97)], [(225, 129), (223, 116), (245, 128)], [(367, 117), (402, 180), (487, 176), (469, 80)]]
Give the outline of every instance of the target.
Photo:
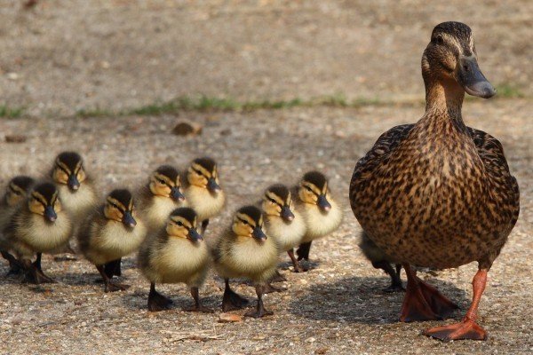
[(468, 94), (480, 98), (496, 94), (478, 66), (472, 29), (461, 22), (442, 22), (434, 28), (422, 56), (422, 74), (426, 83), (456, 82)]

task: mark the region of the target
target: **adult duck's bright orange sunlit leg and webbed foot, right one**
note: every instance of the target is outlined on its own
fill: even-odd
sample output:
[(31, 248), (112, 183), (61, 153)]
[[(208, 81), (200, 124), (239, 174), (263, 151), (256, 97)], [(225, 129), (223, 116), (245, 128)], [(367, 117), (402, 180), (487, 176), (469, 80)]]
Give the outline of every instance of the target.
[(433, 336), (434, 338), (443, 341), (459, 340), (459, 339), (473, 339), (485, 340), (487, 339), (487, 332), (480, 327), (475, 319), (477, 318), (477, 310), (480, 304), (481, 295), (485, 290), (487, 284), (487, 270), (480, 269), (473, 277), (473, 300), (465, 318), (460, 323), (451, 324), (444, 327), (432, 327), (427, 329), (424, 334)]

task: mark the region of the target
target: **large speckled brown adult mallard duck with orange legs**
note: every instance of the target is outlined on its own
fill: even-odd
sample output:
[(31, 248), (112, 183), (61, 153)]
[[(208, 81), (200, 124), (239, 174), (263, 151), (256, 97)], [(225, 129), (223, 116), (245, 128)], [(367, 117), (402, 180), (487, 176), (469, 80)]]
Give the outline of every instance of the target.
[(402, 321), (442, 319), (457, 308), (418, 279), (411, 264), (441, 269), (478, 262), (465, 318), (425, 334), (484, 340), (478, 304), (487, 272), (518, 219), (518, 184), (497, 138), (463, 122), (465, 91), (485, 99), (496, 93), (481, 74), (472, 30), (460, 22), (436, 26), (422, 75), (426, 113), (386, 131), (357, 162), (350, 201), (365, 233), (405, 268)]

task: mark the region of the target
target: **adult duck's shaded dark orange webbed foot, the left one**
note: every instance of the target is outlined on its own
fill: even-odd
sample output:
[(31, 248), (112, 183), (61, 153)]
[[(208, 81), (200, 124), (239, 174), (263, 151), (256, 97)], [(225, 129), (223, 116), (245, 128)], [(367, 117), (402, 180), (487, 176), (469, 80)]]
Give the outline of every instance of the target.
[(420, 280), (410, 264), (403, 264), (403, 267), (407, 273), (407, 291), (403, 298), (401, 321), (440, 320), (457, 310), (457, 304)]

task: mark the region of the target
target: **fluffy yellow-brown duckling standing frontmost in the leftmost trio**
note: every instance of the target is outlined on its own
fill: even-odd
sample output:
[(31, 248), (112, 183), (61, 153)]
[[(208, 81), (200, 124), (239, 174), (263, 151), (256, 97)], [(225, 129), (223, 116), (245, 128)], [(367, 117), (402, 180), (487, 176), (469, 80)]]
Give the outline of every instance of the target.
[(13, 212), (4, 237), (15, 251), (27, 272), (30, 282), (54, 282), (44, 275), (41, 264), (32, 264), (31, 257), (51, 252), (68, 243), (72, 234), (72, 222), (62, 208), (59, 190), (52, 183), (39, 183), (29, 193), (27, 203)]

